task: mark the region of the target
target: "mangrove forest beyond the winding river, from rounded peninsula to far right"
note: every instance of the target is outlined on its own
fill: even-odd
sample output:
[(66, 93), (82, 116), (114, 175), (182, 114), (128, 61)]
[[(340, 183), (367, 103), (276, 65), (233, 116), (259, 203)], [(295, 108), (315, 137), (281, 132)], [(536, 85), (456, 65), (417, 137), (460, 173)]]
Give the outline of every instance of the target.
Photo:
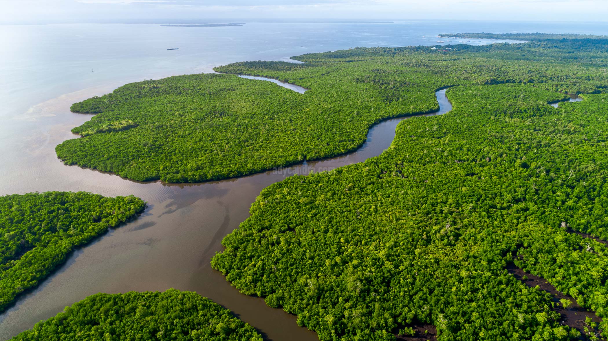
[[(593, 44), (586, 42), (593, 40)], [(295, 57), (305, 64), (243, 62), (226, 73), (272, 76), (304, 94), (233, 75), (187, 75), (126, 84), (72, 106), (98, 113), (57, 146), (67, 164), (134, 180), (196, 182), (251, 174), (356, 149), (383, 118), (438, 109), (441, 87), (499, 83), (601, 92), (602, 39), (354, 49)], [(602, 45), (604, 44), (604, 45)], [(582, 47), (582, 49), (581, 49)], [(576, 54), (572, 53), (576, 50)], [(576, 56), (576, 65), (572, 61)]]

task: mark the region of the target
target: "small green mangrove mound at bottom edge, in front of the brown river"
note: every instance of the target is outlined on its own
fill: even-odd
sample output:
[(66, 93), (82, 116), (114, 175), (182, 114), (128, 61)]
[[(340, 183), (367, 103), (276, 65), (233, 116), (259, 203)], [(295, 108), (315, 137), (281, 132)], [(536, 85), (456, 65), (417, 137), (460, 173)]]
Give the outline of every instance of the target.
[(13, 337), (38, 340), (261, 341), (255, 329), (195, 292), (95, 294)]

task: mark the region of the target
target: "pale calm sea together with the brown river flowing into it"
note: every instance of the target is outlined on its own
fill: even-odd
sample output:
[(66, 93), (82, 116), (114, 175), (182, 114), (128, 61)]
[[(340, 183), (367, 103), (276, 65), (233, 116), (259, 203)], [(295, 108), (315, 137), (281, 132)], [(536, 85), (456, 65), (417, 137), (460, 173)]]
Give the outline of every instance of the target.
[[(249, 215), (263, 187), (294, 172), (308, 174), (356, 163), (387, 148), (399, 120), (370, 130), (350, 155), (204, 184), (136, 183), (116, 175), (64, 166), (54, 148), (89, 120), (69, 107), (143, 79), (210, 72), (249, 60), (286, 60), (310, 52), (358, 46), (435, 45), (438, 33), (555, 32), (608, 34), (607, 24), (403, 21), (393, 24), (247, 23), (240, 27), (161, 27), (157, 24), (0, 26), (0, 195), (34, 191), (134, 194), (150, 208), (74, 252), (38, 288), (0, 315), (9, 339), (64, 306), (96, 292), (196, 291), (232, 309), (272, 340), (316, 340), (295, 317), (240, 294), (209, 260), (220, 241)], [(471, 39), (472, 44), (489, 41)], [(458, 39), (452, 39), (458, 44)], [(167, 48), (179, 47), (168, 51)], [(256, 80), (252, 80), (256, 81)], [(303, 94), (305, 96), (305, 94)], [(443, 106), (443, 104), (442, 104)]]

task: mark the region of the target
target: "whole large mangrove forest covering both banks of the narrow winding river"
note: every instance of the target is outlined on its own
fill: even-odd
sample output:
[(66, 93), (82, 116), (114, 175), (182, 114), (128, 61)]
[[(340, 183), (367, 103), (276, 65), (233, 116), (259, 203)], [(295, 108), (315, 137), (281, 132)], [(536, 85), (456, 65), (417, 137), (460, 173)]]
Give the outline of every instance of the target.
[[(379, 157), (264, 189), (213, 268), (322, 341), (428, 325), (440, 341), (598, 340), (606, 320), (568, 326), (558, 309), (573, 302), (511, 270), (607, 317), (608, 39), (495, 38), (524, 36), (216, 68), (304, 94), (233, 75), (126, 84), (75, 103), (97, 115), (56, 150), (135, 180), (237, 177), (344, 154), (379, 120), (437, 110), (435, 90), (449, 87), (452, 111), (399, 123)], [(584, 100), (549, 105), (568, 94)]]

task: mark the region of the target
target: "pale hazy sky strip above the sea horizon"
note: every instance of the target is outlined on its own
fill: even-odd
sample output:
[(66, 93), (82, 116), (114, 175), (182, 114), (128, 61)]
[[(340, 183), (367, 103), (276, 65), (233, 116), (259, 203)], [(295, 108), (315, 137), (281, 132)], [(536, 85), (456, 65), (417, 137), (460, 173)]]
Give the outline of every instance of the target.
[(106, 19), (608, 21), (608, 0), (0, 0), (0, 23)]

